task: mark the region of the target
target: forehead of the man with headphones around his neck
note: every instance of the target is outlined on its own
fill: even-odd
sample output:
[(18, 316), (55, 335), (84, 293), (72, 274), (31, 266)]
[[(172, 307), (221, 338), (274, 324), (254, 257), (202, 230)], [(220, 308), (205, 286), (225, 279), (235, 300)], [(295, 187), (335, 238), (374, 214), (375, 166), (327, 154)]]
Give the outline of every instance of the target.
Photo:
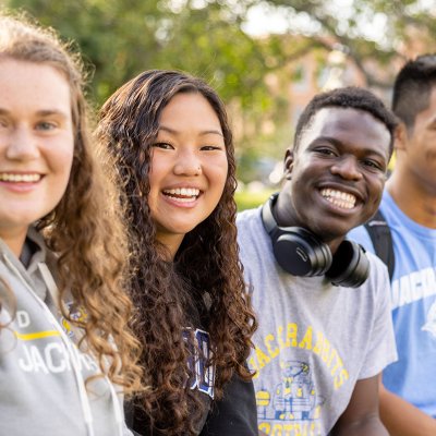
[(389, 156), (390, 133), (387, 126), (364, 110), (338, 107), (319, 109), (304, 129), (299, 147), (304, 148), (319, 137), (370, 147)]

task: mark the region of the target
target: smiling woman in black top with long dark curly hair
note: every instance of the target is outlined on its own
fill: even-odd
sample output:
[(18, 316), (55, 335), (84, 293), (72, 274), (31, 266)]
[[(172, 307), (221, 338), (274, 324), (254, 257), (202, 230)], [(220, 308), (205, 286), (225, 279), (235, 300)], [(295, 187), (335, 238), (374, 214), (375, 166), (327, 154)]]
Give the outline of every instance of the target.
[(142, 435), (254, 435), (245, 360), (256, 327), (237, 247), (235, 162), (225, 106), (203, 80), (146, 71), (104, 105), (117, 161), (143, 343)]

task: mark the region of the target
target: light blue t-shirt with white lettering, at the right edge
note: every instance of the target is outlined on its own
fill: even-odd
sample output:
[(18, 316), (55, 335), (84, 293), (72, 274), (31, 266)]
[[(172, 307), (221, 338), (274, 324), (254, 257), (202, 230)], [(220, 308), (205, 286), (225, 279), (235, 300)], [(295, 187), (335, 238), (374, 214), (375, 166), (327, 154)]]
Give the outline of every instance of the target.
[[(393, 240), (390, 296), (399, 354), (384, 371), (384, 385), (436, 417), (436, 229), (412, 221), (386, 190), (380, 210)], [(363, 226), (348, 238), (374, 252)]]

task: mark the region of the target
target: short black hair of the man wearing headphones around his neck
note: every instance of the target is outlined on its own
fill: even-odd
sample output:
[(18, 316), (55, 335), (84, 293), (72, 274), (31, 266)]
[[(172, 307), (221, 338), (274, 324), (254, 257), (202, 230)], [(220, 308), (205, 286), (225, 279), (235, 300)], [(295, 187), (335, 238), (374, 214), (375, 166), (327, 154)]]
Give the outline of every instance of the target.
[(316, 112), (328, 107), (363, 110), (382, 121), (390, 133), (389, 155), (392, 153), (393, 132), (398, 124), (395, 114), (372, 92), (358, 86), (347, 86), (317, 94), (308, 102), (296, 123), (294, 149), (299, 146), (304, 129), (311, 124)]

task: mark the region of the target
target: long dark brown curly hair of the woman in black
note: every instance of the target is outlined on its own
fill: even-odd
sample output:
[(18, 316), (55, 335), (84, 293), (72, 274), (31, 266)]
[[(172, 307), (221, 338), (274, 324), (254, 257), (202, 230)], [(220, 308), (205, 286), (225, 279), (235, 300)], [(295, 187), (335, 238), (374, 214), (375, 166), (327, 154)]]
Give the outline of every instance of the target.
[[(225, 137), (228, 177), (211, 215), (189, 232), (174, 262), (156, 241), (147, 204), (152, 145), (162, 109), (179, 93), (199, 93), (218, 116)], [(166, 435), (196, 434), (204, 409), (186, 387), (192, 347), (182, 337), (198, 319), (210, 335), (216, 365), (216, 398), (245, 366), (256, 322), (239, 262), (234, 202), (235, 161), (225, 106), (204, 81), (178, 71), (146, 71), (119, 88), (104, 105), (97, 135), (112, 156), (125, 189), (131, 231), (132, 295), (140, 310), (136, 330), (143, 342), (144, 384), (150, 389), (142, 407), (150, 425)], [(168, 258), (168, 257), (167, 257)], [(207, 304), (205, 304), (205, 301)], [(193, 310), (196, 308), (196, 310)], [(159, 433), (160, 434), (160, 433)]]

